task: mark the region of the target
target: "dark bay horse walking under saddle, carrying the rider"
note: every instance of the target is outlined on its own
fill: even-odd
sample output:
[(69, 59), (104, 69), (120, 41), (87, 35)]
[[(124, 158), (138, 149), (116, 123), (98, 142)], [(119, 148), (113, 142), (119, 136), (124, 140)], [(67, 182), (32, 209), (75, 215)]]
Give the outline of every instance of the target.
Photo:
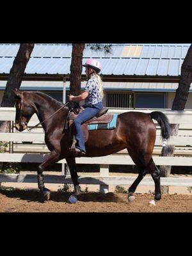
[[(43, 172), (49, 165), (64, 158), (74, 184), (74, 195), (80, 195), (76, 156), (69, 150), (72, 138), (70, 131), (65, 129), (68, 107), (42, 92), (21, 92), (19, 90), (14, 90), (14, 92), (16, 129), (20, 132), (27, 129), (31, 116), (36, 113), (45, 131), (45, 143), (51, 151), (47, 159), (38, 166), (37, 171), (38, 188), (44, 200), (49, 200), (51, 192), (44, 186)], [(58, 111), (60, 108), (61, 110)], [(162, 138), (168, 140), (170, 125), (163, 113), (160, 111), (152, 113), (129, 111), (118, 115), (115, 129), (89, 131), (88, 141), (85, 143), (86, 155), (84, 157), (108, 156), (127, 148), (139, 172), (138, 177), (129, 187), (129, 201), (134, 199), (133, 193), (145, 177), (147, 170), (152, 175), (155, 184), (154, 200), (161, 199), (160, 171), (152, 159), (156, 141), (156, 125), (152, 119), (157, 120), (160, 125)]]

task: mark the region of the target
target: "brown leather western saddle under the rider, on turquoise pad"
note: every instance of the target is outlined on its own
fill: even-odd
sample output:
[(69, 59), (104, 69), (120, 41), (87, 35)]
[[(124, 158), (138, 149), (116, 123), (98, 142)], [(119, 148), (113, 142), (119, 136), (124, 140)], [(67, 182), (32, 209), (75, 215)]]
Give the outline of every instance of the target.
[[(70, 111), (68, 111), (67, 116), (67, 122), (65, 124), (65, 129), (70, 129), (71, 138), (72, 138), (72, 146), (70, 148), (70, 151), (76, 154), (76, 129), (74, 125), (74, 119), (77, 117), (77, 115), (81, 112), (83, 112), (83, 108), (71, 108)], [(88, 140), (88, 125), (90, 124), (108, 124), (113, 119), (113, 115), (106, 115), (108, 112), (108, 108), (102, 108), (99, 113), (94, 116), (93, 118), (87, 120), (82, 124), (83, 128), (83, 136), (84, 136), (84, 142)]]

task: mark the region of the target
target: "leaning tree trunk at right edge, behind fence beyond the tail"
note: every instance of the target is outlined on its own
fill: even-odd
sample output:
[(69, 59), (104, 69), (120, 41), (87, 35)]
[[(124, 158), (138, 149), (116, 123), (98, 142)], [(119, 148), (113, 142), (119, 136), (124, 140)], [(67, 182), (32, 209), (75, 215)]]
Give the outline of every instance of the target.
[[(188, 49), (186, 58), (181, 67), (179, 86), (175, 93), (172, 110), (184, 110), (186, 101), (188, 100), (189, 88), (192, 82), (192, 45)], [(171, 135), (177, 136), (179, 124), (171, 124)], [(161, 156), (173, 156), (175, 151), (174, 145), (163, 147)], [(161, 177), (169, 177), (172, 166), (160, 166)], [(168, 193), (168, 186), (162, 186), (162, 192)]]

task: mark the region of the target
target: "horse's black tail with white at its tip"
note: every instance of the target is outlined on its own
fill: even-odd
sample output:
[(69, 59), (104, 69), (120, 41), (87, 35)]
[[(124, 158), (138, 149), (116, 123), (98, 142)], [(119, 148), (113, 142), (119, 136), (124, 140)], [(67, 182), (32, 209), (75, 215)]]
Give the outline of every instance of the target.
[(166, 115), (162, 112), (154, 111), (149, 114), (151, 118), (155, 119), (161, 127), (161, 136), (164, 139), (163, 146), (166, 145), (166, 141), (170, 138), (170, 123)]

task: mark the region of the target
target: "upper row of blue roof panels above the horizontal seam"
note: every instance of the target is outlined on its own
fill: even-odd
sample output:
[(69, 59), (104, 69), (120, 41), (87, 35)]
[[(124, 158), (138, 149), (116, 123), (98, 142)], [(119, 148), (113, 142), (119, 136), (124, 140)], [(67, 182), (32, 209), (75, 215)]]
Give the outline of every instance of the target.
[[(140, 57), (140, 58), (185, 58), (190, 44), (112, 44), (111, 54), (93, 51), (86, 46), (84, 57)], [(15, 57), (19, 44), (0, 44), (0, 56)], [(35, 44), (31, 57), (68, 57), (72, 54), (72, 45)]]

